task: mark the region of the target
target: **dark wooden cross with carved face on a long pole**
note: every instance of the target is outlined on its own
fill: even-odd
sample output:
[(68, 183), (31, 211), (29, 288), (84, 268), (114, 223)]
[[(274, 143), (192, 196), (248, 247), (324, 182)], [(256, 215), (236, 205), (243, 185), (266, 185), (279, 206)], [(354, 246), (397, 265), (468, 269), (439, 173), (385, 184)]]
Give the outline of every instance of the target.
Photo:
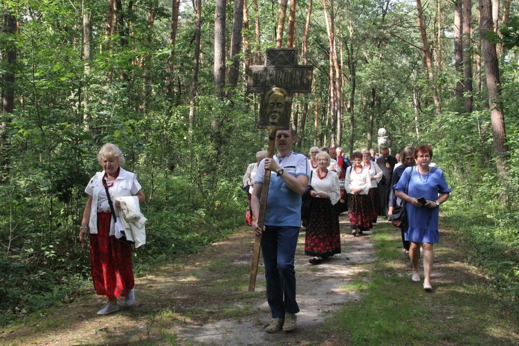
[[(262, 93), (260, 100), (259, 129), (268, 129), (268, 154), (274, 156), (275, 132), (290, 128), (293, 93), (311, 91), (313, 66), (298, 65), (297, 48), (267, 49), (264, 66), (250, 66), (248, 71), (248, 93)], [(265, 171), (257, 224), (264, 226), (268, 185), (271, 171)], [(254, 243), (251, 277), (248, 291), (254, 292), (257, 265), (260, 262), (262, 236), (257, 235)]]

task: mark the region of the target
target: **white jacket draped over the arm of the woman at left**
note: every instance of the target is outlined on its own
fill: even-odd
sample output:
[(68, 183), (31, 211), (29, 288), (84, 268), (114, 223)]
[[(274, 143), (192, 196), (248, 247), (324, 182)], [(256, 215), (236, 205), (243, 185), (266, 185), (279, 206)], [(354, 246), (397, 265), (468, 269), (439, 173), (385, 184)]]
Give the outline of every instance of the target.
[(135, 242), (136, 248), (146, 244), (145, 224), (148, 220), (140, 212), (138, 197), (117, 197), (116, 201), (120, 202), (119, 218), (125, 226), (127, 239)]

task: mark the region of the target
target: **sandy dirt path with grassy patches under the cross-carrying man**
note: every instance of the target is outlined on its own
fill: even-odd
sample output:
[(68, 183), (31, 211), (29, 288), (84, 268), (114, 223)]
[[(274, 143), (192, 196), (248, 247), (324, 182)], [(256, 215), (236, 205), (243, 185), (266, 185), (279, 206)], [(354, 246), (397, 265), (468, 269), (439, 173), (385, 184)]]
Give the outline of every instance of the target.
[[(374, 260), (370, 233), (349, 235), (347, 217), (340, 216), (343, 253), (321, 265), (304, 255), (304, 228), (295, 258), (298, 328), (292, 333), (266, 334), (271, 320), (260, 262), (256, 291), (248, 292), (253, 235), (242, 233), (212, 244), (200, 253), (175, 260), (136, 280), (136, 302), (118, 313), (97, 316), (104, 298), (89, 295), (60, 307), (39, 322), (1, 332), (0, 343), (10, 345), (305, 345), (319, 343), (316, 330), (349, 300), (347, 289)], [(320, 343), (322, 344), (322, 343)]]

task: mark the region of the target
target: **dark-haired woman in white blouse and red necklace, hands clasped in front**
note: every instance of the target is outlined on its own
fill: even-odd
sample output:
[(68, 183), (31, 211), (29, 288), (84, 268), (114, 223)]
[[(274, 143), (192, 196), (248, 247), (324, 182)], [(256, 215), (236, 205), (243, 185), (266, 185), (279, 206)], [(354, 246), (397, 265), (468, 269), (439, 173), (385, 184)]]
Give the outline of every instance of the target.
[(352, 235), (362, 235), (362, 230), (370, 228), (372, 218), (370, 200), (367, 193), (371, 187), (370, 171), (362, 165), (362, 153), (352, 154), (353, 165), (345, 175), (345, 188), (348, 193), (349, 221), (352, 223)]

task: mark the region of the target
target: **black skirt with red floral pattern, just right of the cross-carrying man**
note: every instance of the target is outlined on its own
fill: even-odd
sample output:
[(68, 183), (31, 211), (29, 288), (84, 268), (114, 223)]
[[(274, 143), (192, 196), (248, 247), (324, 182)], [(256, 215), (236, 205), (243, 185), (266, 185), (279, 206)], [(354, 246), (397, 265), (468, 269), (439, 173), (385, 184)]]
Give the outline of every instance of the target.
[(340, 253), (339, 217), (329, 199), (313, 198), (304, 240), (304, 254), (330, 257)]

